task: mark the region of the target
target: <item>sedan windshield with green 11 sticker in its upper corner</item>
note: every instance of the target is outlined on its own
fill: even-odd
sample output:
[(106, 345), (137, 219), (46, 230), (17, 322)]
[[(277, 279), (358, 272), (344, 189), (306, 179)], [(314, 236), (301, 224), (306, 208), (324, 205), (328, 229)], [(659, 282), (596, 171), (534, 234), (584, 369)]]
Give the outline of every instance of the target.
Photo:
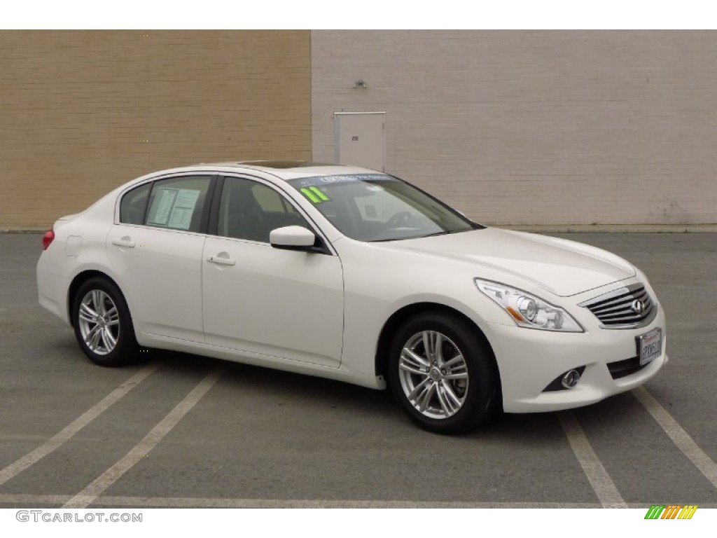
[(351, 239), (392, 241), (482, 227), (387, 174), (303, 177), (288, 183)]

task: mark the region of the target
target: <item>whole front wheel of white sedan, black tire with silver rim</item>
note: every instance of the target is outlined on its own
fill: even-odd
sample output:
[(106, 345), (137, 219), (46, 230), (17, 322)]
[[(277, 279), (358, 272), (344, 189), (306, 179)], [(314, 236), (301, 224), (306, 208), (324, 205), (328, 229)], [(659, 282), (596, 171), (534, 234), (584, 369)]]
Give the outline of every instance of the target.
[(463, 433), (500, 408), (493, 353), (478, 329), (459, 316), (429, 311), (410, 318), (389, 353), (391, 391), (425, 430)]

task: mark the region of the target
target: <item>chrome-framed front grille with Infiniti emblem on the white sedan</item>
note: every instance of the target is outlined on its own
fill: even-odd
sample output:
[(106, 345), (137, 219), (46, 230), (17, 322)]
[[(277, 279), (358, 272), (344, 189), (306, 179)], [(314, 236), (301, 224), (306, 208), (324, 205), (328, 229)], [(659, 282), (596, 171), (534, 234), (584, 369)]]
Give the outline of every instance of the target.
[(580, 303), (597, 316), (604, 329), (632, 329), (650, 323), (657, 315), (657, 303), (652, 301), (645, 286), (636, 283), (609, 291)]

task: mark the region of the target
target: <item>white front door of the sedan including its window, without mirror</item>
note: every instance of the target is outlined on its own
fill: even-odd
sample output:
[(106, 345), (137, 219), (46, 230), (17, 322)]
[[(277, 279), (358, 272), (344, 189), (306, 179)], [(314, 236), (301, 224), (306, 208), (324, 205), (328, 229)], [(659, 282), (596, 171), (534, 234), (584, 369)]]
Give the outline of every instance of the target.
[(227, 177), (218, 235), (204, 243), (207, 344), (338, 367), (343, 342), (343, 276), (336, 255), (280, 250), (269, 232), (310, 225), (282, 194)]

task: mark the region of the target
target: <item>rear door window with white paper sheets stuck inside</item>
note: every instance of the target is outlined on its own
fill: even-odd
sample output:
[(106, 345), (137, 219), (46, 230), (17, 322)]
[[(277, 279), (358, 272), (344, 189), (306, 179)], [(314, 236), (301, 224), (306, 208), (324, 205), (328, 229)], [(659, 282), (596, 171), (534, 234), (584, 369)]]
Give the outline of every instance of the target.
[(155, 181), (145, 224), (199, 232), (209, 181), (209, 176), (182, 176)]

